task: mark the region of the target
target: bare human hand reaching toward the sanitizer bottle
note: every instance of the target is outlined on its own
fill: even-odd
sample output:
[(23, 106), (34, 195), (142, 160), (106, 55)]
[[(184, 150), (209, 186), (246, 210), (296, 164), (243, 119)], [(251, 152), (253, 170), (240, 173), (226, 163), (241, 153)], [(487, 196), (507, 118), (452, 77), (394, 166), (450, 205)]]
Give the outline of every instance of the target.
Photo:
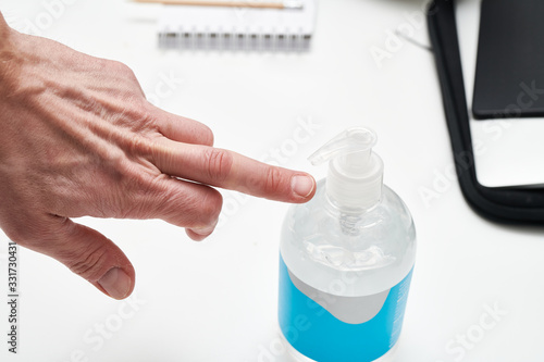
[(313, 178), (213, 148), (211, 130), (150, 104), (133, 72), (18, 34), (0, 14), (0, 227), (107, 295), (131, 295), (134, 267), (103, 235), (70, 217), (162, 219), (210, 235), (210, 186), (306, 202)]

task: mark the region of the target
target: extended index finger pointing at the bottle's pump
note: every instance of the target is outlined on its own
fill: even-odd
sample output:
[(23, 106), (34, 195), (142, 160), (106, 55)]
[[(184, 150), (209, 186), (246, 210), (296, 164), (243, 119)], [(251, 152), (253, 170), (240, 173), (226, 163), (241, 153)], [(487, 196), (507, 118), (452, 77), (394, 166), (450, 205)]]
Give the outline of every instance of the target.
[(316, 180), (305, 172), (209, 146), (162, 140), (153, 163), (164, 174), (271, 200), (300, 203), (316, 194)]

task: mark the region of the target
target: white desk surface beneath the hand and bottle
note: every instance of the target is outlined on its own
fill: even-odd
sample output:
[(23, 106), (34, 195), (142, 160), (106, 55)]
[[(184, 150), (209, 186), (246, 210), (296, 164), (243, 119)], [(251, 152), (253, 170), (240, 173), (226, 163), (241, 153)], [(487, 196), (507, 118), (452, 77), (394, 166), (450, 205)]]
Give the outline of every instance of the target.
[[(305, 54), (163, 51), (158, 5), (60, 1), (69, 4), (44, 36), (128, 64), (148, 95), (162, 77), (175, 78), (160, 105), (208, 124), (218, 147), (276, 157), (321, 178), (325, 167), (306, 161), (313, 150), (348, 126), (378, 132), (385, 183), (409, 205), (418, 230), (396, 361), (544, 360), (543, 230), (481, 219), (457, 182), (438, 176), (452, 152), (431, 52), (403, 41), (381, 68), (371, 57), (371, 47), (384, 48), (386, 30), (407, 22), (406, 12), (421, 14), (421, 0), (322, 0)], [(0, 10), (21, 27), (54, 2), (3, 0)], [(428, 42), (426, 26), (417, 27), (413, 37)], [(299, 122), (310, 120), (313, 134), (294, 142)], [(425, 202), (422, 188), (437, 197)], [(160, 221), (81, 220), (134, 263), (129, 301), (110, 300), (57, 261), (21, 249), (20, 353), (8, 353), (2, 333), (0, 360), (289, 361), (276, 346), (277, 248), (287, 205), (224, 196), (222, 225), (200, 244)], [(7, 238), (0, 239), (7, 298)], [(0, 305), (5, 332), (8, 308)]]

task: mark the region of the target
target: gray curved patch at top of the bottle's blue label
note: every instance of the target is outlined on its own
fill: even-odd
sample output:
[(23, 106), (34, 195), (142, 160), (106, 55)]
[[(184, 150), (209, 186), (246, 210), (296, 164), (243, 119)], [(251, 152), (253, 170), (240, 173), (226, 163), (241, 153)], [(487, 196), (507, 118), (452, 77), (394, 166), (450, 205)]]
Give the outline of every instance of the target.
[(288, 271), (290, 280), (308, 298), (344, 323), (360, 324), (372, 320), (382, 309), (391, 289), (364, 297), (344, 297), (318, 290)]

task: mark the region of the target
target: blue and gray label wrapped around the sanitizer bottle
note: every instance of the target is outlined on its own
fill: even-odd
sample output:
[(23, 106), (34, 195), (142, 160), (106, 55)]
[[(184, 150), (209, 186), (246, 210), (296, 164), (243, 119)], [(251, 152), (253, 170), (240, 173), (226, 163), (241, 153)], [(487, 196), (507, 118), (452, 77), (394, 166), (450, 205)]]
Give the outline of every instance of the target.
[(280, 328), (295, 349), (314, 361), (373, 361), (398, 339), (411, 274), (375, 296), (338, 297), (304, 284), (280, 257)]

